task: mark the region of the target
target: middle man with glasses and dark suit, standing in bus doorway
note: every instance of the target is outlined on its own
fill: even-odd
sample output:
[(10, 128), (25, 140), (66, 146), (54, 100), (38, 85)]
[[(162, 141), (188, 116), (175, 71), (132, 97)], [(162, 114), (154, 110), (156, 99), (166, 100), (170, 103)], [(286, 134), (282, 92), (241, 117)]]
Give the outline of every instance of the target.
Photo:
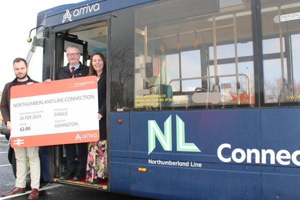
[[(59, 69), (57, 79), (82, 77), (88, 74), (88, 66), (79, 62), (80, 50), (76, 46), (66, 48), (66, 57), (68, 64)], [(80, 106), (80, 105), (79, 105)], [(77, 161), (79, 165), (76, 167), (76, 144), (64, 144), (66, 168), (68, 169), (59, 177), (60, 180), (81, 180), (85, 177), (85, 166), (87, 159), (87, 143), (77, 143), (79, 155)]]

